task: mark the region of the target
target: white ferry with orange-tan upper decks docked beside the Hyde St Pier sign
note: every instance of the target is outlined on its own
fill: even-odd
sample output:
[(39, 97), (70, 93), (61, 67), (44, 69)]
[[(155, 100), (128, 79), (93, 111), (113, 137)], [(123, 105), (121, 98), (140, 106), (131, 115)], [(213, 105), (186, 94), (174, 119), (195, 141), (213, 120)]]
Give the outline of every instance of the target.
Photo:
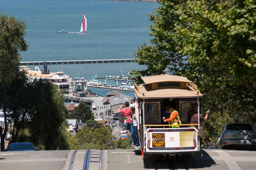
[(49, 72), (47, 70), (47, 64), (44, 71), (40, 71), (39, 67), (35, 67), (35, 70), (31, 70), (28, 66), (20, 66), (20, 70), (26, 71), (26, 75), (29, 81), (33, 82), (35, 79), (46, 79), (59, 86), (59, 89), (68, 89), (69, 88), (69, 79), (70, 77), (61, 70), (59, 72)]

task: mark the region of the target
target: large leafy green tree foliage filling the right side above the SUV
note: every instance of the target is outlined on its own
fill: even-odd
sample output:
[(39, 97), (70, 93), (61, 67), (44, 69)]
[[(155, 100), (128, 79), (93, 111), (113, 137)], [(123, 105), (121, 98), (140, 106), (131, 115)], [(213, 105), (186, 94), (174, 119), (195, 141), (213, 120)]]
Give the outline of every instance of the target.
[(149, 15), (154, 22), (149, 33), (152, 44), (142, 44), (135, 53), (136, 62), (148, 66), (131, 72), (138, 82), (140, 76), (167, 68), (195, 82), (204, 94), (204, 110), (211, 110), (205, 123), (208, 138), (226, 121), (255, 125), (256, 1), (159, 3)]

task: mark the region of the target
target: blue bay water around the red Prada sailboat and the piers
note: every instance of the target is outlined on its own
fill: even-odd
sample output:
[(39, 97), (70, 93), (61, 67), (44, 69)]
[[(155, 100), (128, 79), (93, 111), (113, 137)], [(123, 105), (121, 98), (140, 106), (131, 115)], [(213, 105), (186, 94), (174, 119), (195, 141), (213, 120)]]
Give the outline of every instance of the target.
[[(26, 20), (25, 39), (30, 46), (21, 53), (22, 62), (133, 58), (137, 47), (144, 40), (148, 44), (152, 38), (148, 35), (152, 22), (147, 14), (157, 6), (156, 2), (102, 0), (9, 0), (0, 3), (2, 13)], [(80, 31), (83, 14), (87, 17), (88, 34), (76, 34)], [(71, 33), (57, 33), (63, 29)], [(66, 64), (63, 67), (66, 74), (87, 79), (95, 74), (97, 77), (119, 75), (121, 69), (124, 74), (130, 69), (145, 69), (137, 63)], [(59, 71), (59, 68), (59, 65), (48, 65), (51, 71)]]

